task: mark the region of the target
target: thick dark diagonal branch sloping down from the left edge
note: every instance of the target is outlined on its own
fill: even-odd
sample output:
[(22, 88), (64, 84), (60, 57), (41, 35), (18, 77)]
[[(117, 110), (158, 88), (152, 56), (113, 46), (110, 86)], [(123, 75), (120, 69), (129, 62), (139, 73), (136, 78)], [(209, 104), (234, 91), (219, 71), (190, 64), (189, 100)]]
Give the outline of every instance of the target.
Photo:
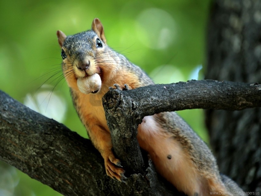
[(103, 158), (90, 140), (2, 91), (0, 103), (0, 159), (61, 194), (174, 194), (158, 181), (151, 163), (146, 175), (134, 174), (126, 183), (113, 180), (107, 177)]

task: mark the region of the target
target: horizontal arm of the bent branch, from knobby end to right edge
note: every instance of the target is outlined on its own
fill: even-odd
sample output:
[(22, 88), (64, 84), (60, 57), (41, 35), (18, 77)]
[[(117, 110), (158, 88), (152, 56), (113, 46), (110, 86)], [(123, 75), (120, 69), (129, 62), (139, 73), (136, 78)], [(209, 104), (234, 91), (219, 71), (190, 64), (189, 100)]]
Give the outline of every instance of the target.
[[(217, 80), (190, 80), (156, 84), (131, 91), (109, 91), (103, 102), (116, 111), (128, 105), (129, 115), (142, 122), (144, 116), (185, 109), (243, 110), (261, 106), (261, 84)], [(112, 99), (110, 99), (112, 98)], [(106, 102), (106, 100), (110, 99)], [(128, 113), (127, 113), (128, 114)], [(123, 116), (118, 116), (122, 119)], [(128, 133), (125, 133), (125, 135)]]

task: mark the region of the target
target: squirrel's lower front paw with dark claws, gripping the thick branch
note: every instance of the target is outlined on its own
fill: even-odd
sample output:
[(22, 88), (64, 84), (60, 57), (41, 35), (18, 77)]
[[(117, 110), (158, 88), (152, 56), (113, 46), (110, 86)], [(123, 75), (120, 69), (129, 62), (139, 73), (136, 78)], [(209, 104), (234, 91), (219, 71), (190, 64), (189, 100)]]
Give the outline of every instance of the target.
[(121, 166), (119, 159), (116, 159), (113, 154), (110, 154), (107, 159), (104, 159), (106, 174), (113, 179), (117, 179), (120, 182), (125, 182), (124, 169)]

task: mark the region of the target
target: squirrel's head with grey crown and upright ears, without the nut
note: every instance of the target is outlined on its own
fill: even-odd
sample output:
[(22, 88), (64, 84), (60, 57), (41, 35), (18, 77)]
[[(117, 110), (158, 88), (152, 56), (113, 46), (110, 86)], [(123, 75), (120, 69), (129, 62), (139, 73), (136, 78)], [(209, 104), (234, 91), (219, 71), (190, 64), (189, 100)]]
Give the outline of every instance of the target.
[(56, 34), (62, 49), (64, 77), (70, 87), (76, 84), (78, 78), (95, 73), (103, 80), (103, 73), (106, 72), (104, 62), (111, 60), (107, 59), (109, 47), (106, 44), (103, 25), (98, 18), (93, 20), (91, 30), (70, 36), (58, 30)]

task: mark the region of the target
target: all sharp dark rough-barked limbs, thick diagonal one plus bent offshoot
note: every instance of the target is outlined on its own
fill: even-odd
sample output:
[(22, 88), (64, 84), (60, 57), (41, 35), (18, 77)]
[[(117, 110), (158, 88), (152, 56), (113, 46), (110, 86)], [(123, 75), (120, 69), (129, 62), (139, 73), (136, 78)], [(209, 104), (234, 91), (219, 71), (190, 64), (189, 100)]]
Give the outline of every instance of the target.
[[(109, 126), (113, 138), (120, 141), (114, 148), (119, 151), (124, 145), (130, 145), (128, 142), (135, 143), (136, 128), (144, 116), (189, 108), (260, 107), (260, 89), (258, 84), (202, 80), (109, 91), (103, 101), (108, 110), (107, 119), (111, 119)], [(164, 102), (159, 101), (162, 97)], [(89, 140), (1, 91), (0, 103), (0, 159), (54, 190), (64, 195), (181, 195), (172, 185), (158, 178), (148, 159), (145, 159), (147, 168), (142, 167), (140, 173), (132, 174), (126, 183), (108, 178), (103, 159)], [(128, 115), (133, 119), (133, 129), (117, 132), (119, 129), (115, 127), (121, 126), (117, 123)], [(131, 135), (132, 139), (126, 142)], [(135, 149), (139, 151), (138, 146)], [(127, 157), (123, 159), (130, 163), (127, 169), (139, 159), (128, 152), (123, 152)]]

